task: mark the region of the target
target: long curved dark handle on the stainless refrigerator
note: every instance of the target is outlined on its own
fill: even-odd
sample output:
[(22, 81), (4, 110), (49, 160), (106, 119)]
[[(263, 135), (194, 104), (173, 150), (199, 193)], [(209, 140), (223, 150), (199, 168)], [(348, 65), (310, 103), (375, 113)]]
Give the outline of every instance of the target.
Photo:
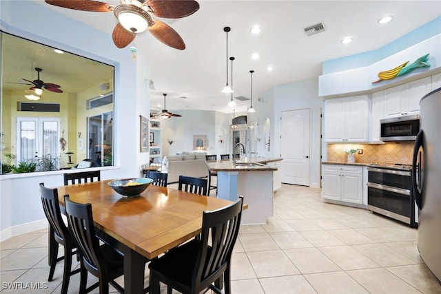
[(418, 208), (422, 209), (422, 185), (423, 185), (423, 161), (424, 161), (424, 147), (422, 145), (422, 139), (424, 132), (420, 129), (415, 139), (415, 145), (413, 146), (412, 157), (412, 193), (415, 198)]

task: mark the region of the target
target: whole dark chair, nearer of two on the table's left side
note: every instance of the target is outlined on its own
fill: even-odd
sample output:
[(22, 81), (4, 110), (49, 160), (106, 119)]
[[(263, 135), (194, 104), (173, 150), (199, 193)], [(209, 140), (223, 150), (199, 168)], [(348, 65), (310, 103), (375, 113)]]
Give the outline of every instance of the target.
[[(73, 202), (64, 196), (69, 229), (81, 255), (79, 293), (89, 293), (99, 286), (100, 294), (109, 293), (109, 284), (119, 293), (124, 293), (121, 285), (114, 280), (124, 274), (123, 255), (108, 244), (99, 243), (95, 234), (92, 204)], [(88, 272), (98, 277), (99, 282), (86, 288)]]

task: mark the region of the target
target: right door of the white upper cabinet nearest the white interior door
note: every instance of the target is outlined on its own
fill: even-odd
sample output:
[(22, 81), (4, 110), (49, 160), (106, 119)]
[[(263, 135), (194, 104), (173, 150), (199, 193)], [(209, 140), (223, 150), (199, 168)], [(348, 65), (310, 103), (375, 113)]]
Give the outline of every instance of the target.
[(369, 103), (366, 95), (349, 97), (346, 100), (346, 141), (367, 142), (369, 125)]

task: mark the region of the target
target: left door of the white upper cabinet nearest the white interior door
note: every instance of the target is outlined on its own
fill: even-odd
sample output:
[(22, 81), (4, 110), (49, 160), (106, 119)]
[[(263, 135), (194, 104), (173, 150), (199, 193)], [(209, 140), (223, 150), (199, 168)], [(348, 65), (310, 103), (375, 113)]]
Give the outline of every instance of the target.
[(345, 99), (332, 98), (325, 101), (325, 140), (345, 140)]

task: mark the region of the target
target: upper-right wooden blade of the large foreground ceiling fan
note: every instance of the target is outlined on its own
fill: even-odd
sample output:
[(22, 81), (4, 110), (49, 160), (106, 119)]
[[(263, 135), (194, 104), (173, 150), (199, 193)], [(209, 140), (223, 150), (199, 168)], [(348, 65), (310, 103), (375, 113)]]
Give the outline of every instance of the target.
[(148, 0), (147, 5), (153, 8), (156, 17), (179, 19), (198, 11), (199, 3), (194, 0)]

